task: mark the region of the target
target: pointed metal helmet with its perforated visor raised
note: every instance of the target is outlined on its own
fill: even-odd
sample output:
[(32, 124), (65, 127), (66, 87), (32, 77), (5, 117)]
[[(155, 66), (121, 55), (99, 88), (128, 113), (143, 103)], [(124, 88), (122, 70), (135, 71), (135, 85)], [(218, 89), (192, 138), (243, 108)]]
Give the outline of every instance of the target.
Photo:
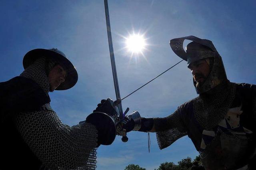
[[(185, 39), (193, 41), (187, 45), (186, 51), (183, 48), (183, 42)], [(213, 58), (213, 65), (210, 74), (200, 88), (196, 87), (196, 82), (193, 78), (197, 94), (207, 92), (218, 84), (228, 80), (222, 58), (214, 47), (212, 41), (190, 35), (188, 37), (171, 39), (170, 46), (178, 57), (188, 62), (188, 65), (201, 59)]]

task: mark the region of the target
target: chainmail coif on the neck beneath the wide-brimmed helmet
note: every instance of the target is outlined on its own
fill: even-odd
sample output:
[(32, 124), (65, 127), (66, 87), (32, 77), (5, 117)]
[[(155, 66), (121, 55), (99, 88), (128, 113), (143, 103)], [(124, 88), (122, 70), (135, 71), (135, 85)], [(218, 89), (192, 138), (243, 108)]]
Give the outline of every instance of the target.
[[(46, 72), (45, 72), (44, 64), (45, 64), (45, 58), (40, 57), (36, 61), (34, 61), (33, 64), (28, 66), (28, 68), (26, 68), (20, 74), (20, 76), (34, 80), (34, 82), (36, 82), (48, 96), (50, 85), (49, 85), (48, 76), (46, 75)], [(52, 64), (49, 64), (49, 67), (53, 67)]]

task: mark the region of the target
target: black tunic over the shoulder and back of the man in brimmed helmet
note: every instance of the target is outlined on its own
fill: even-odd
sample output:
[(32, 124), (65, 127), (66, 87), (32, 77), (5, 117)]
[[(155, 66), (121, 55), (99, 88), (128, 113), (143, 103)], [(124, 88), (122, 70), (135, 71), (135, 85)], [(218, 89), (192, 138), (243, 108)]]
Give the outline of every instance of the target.
[(14, 117), (20, 112), (52, 110), (50, 97), (33, 80), (17, 76), (0, 82), (0, 105), (1, 169), (39, 169), (42, 162), (23, 141)]

